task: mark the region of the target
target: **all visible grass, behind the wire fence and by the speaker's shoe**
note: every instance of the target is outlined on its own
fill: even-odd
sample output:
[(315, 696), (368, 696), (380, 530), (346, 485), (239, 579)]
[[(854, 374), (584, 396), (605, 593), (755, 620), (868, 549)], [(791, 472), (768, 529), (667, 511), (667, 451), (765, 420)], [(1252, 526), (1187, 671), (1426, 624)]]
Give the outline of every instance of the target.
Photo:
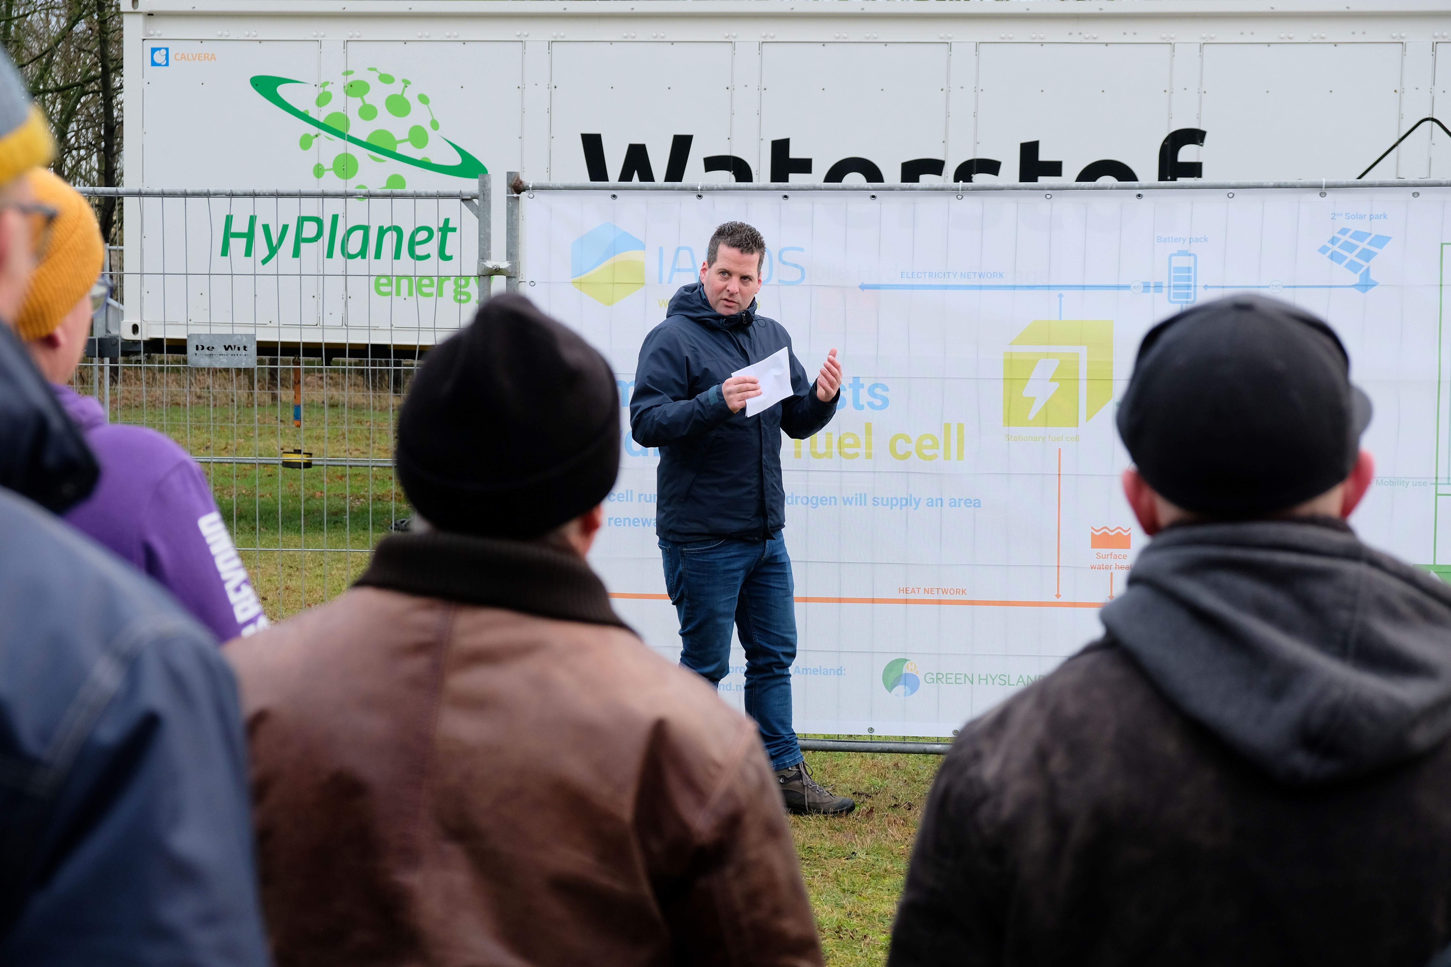
[[(303, 425), (293, 426), (293, 370), (271, 384), (184, 365), (133, 368), (112, 387), (113, 422), (158, 429), (193, 457), (389, 460), (402, 397), (364, 377), (311, 365)], [(93, 393), (89, 367), (77, 378)], [(389, 525), (411, 513), (390, 467), (203, 462), (216, 503), (273, 621), (342, 593)], [(923, 802), (942, 758), (807, 752), (817, 780), (858, 802), (849, 816), (792, 816), (826, 961), (882, 964)]]

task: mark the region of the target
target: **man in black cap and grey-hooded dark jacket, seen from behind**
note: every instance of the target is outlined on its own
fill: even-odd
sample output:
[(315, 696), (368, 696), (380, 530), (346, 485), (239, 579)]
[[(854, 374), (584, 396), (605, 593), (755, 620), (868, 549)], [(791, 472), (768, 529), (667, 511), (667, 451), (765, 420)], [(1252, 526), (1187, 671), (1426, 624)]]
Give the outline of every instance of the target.
[(1451, 944), (1451, 589), (1345, 518), (1370, 400), (1319, 319), (1154, 328), (1119, 404), (1154, 536), (1104, 636), (962, 729), (908, 964), (1406, 964)]

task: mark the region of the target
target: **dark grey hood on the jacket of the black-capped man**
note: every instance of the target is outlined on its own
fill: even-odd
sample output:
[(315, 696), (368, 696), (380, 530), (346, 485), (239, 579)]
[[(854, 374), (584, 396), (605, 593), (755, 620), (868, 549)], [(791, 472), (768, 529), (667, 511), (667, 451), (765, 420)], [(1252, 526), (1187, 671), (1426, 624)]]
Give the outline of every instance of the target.
[(1360, 776), (1451, 731), (1451, 587), (1341, 520), (1170, 528), (1103, 623), (1172, 705), (1284, 783)]

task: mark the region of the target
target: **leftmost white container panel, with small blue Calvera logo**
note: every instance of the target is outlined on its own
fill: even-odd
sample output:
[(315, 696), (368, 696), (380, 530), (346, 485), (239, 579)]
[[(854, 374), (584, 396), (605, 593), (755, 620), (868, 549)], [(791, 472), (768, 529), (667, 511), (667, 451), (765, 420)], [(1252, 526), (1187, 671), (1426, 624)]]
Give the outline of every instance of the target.
[[(147, 41), (141, 184), (157, 188), (311, 187), (306, 120), (313, 41)], [(139, 199), (126, 206), (126, 316), (148, 338), (277, 332), (318, 323), (316, 267), (290, 258), (280, 226), (316, 202)], [(228, 235), (229, 232), (229, 235)], [(268, 239), (271, 244), (268, 244)], [(223, 254), (225, 245), (225, 254)]]

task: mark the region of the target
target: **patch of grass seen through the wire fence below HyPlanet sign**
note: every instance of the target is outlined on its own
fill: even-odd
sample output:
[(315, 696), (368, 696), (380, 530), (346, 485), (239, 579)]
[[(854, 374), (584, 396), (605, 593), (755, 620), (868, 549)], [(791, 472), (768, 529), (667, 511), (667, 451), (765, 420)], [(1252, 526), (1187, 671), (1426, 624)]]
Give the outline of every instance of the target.
[[(151, 426), (200, 460), (273, 621), (342, 593), (389, 526), (412, 513), (389, 465), (293, 470), (266, 462), (284, 448), (319, 460), (392, 460), (402, 397), (386, 381), (309, 362), (302, 368), (300, 428), (293, 425), (292, 365), (261, 370), (255, 380), (176, 362), (128, 365), (110, 389), (112, 422)], [(96, 394), (89, 365), (75, 384)], [(242, 462), (226, 462), (234, 458)]]

